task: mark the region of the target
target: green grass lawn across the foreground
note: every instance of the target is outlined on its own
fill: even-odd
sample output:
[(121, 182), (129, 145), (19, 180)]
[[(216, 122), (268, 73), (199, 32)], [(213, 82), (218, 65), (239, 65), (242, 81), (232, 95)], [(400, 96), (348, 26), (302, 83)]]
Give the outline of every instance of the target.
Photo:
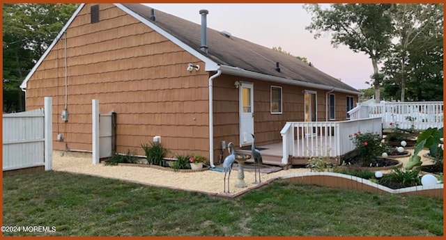
[(286, 181), (224, 199), (48, 171), (3, 179), (3, 225), (56, 227), (6, 236), (443, 236), (443, 200)]

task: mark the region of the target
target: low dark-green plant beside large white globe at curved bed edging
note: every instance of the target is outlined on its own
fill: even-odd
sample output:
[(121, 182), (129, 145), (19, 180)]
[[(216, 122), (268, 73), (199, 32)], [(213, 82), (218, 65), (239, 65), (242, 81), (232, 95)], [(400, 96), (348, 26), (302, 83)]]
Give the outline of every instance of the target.
[[(421, 185), (420, 170), (401, 170), (399, 168), (393, 168), (390, 173), (384, 175), (379, 184), (385, 186), (393, 186), (393, 188), (401, 188), (408, 186)], [(397, 186), (395, 184), (398, 184)]]

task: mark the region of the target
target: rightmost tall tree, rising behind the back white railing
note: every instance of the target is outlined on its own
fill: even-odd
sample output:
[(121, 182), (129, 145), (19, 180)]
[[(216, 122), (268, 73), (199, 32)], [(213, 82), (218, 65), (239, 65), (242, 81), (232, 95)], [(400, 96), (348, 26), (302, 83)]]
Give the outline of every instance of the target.
[[(438, 62), (438, 60), (433, 60), (434, 56), (438, 55), (436, 51), (443, 53), (443, 4), (394, 4), (392, 18), (397, 43), (390, 49), (383, 67), (386, 75), (385, 85), (389, 88), (386, 88), (389, 93), (397, 90), (399, 99), (403, 102), (407, 98), (406, 83), (408, 86), (420, 88), (417, 84), (410, 83), (410, 81), (420, 80), (414, 75), (414, 67), (420, 67), (418, 64), (420, 61), (424, 65), (428, 64), (426, 63), (428, 59)], [(427, 51), (431, 54), (426, 55)], [(415, 59), (418, 62), (414, 62)], [(436, 70), (433, 66), (423, 68), (425, 71)], [(429, 78), (424, 80), (429, 80)], [(397, 89), (395, 89), (396, 86)], [(410, 98), (413, 99), (413, 97), (410, 95)]]

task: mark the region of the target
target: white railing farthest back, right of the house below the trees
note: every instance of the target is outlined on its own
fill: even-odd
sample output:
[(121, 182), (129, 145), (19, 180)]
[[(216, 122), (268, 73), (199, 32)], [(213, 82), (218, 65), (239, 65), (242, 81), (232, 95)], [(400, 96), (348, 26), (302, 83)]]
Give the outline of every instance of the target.
[[(382, 118), (383, 128), (427, 129), (443, 127), (443, 102), (386, 102), (360, 104), (348, 112), (352, 120)], [(392, 125), (390, 123), (392, 122)]]

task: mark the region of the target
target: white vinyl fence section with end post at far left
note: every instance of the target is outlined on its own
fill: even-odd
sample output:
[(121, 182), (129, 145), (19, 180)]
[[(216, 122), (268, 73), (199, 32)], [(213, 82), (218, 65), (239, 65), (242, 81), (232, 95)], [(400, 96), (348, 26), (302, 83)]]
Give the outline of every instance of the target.
[(52, 169), (52, 98), (44, 109), (3, 114), (3, 171)]

